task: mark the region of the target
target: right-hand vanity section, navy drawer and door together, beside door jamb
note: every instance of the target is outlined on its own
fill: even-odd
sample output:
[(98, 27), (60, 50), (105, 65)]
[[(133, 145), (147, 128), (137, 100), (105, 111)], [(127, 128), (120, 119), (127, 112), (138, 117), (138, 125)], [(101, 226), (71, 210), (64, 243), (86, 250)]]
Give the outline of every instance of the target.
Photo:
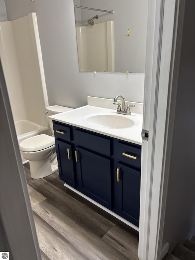
[(116, 149), (115, 211), (135, 226), (139, 226), (141, 146), (119, 141)]

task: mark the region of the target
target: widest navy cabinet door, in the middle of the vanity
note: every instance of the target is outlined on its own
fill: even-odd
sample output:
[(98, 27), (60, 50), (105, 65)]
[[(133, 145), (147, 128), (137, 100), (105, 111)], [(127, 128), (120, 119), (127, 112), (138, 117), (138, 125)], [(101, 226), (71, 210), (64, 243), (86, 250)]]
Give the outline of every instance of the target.
[(111, 205), (111, 160), (76, 147), (78, 189), (101, 205)]

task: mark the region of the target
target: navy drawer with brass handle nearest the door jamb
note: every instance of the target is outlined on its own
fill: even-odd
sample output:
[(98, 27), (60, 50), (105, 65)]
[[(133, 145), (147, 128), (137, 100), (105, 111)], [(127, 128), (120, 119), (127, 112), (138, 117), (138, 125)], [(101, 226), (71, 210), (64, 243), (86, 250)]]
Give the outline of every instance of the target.
[(140, 168), (141, 146), (140, 148), (135, 148), (129, 144), (117, 143), (117, 159)]

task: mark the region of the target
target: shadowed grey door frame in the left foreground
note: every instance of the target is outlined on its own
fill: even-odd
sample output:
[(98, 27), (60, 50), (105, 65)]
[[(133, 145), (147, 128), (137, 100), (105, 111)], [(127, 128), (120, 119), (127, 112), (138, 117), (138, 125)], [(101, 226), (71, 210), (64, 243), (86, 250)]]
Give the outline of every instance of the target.
[(41, 260), (18, 139), (0, 62), (0, 221), (10, 258)]

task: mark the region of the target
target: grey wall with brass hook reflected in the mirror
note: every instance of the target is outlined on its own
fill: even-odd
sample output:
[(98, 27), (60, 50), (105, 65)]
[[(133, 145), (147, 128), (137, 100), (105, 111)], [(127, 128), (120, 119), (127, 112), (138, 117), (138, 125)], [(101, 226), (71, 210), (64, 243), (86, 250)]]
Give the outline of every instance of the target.
[[(147, 3), (147, 0), (80, 0), (81, 6), (115, 11), (110, 14), (81, 9), (81, 18), (82, 25), (88, 25), (87, 20), (96, 15), (99, 17), (94, 23), (114, 20), (116, 72), (145, 72)], [(126, 36), (128, 28), (130, 36)]]

